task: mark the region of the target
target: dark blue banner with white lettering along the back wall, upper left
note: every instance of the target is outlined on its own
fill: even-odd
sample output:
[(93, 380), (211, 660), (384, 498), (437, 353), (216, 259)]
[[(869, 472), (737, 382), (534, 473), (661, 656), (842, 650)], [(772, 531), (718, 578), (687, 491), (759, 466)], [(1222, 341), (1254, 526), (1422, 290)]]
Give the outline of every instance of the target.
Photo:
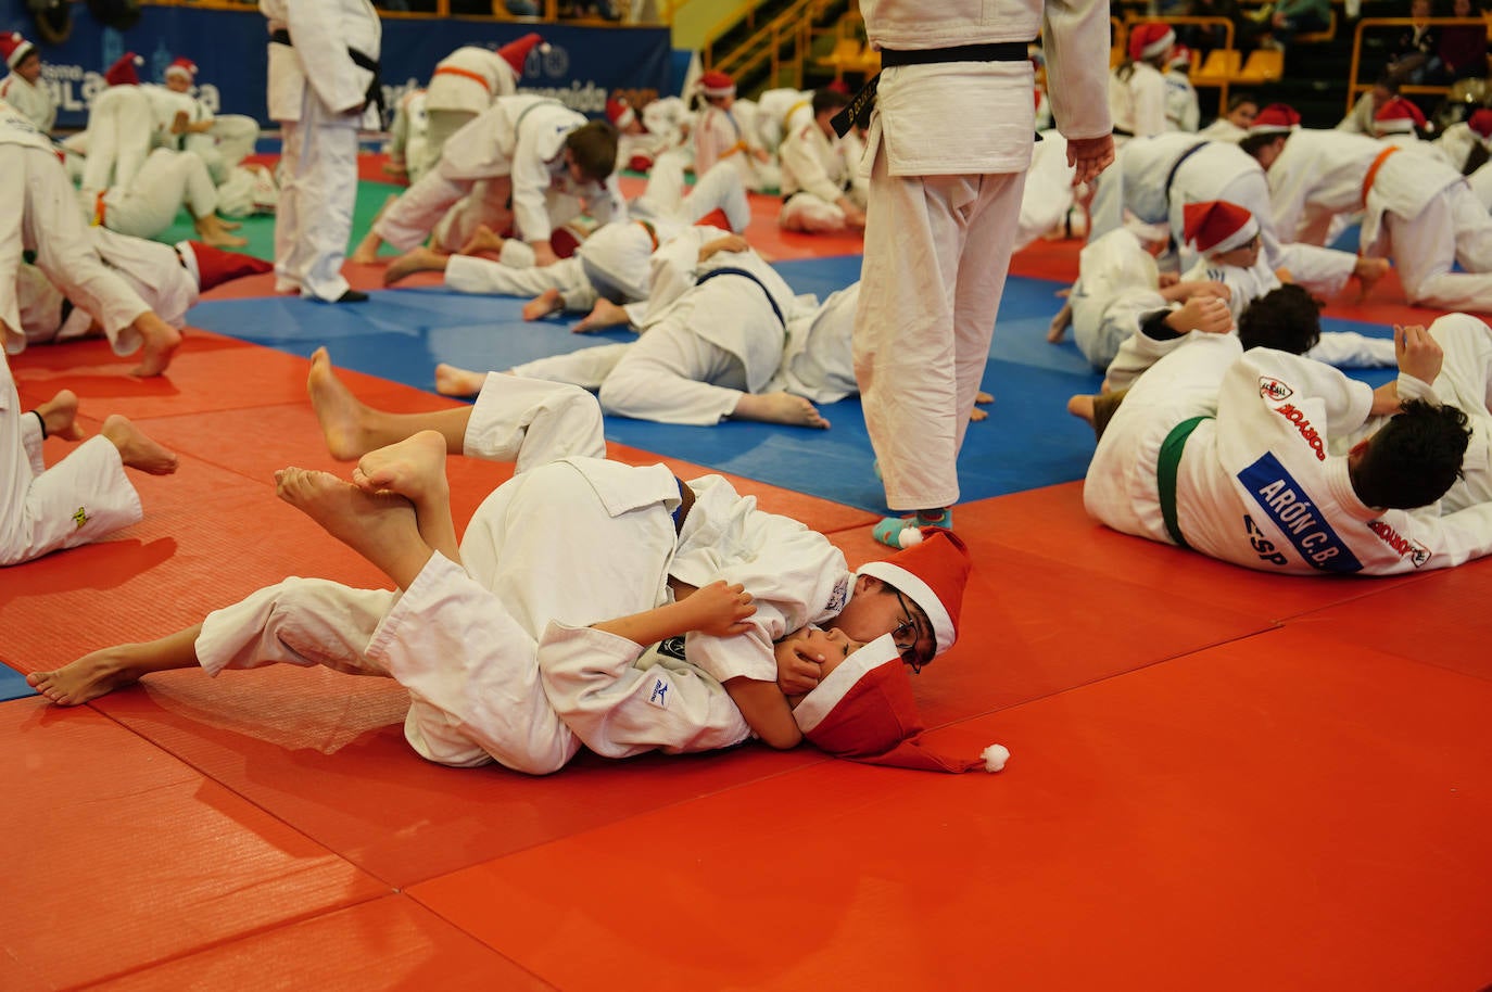
[[(88, 122), (90, 101), (106, 88), (104, 69), (127, 51), (145, 58), (140, 82), (161, 82), (173, 58), (191, 58), (198, 69), (197, 95), (210, 110), (243, 113), (269, 125), (264, 25), (255, 9), (148, 6), (139, 24), (115, 31), (78, 4), (69, 39), (46, 45), (19, 0), (0, 0), (0, 27), (21, 31), (42, 49), (42, 79), (57, 97), (58, 128)], [(519, 92), (552, 95), (589, 116), (603, 115), (606, 98), (618, 92), (634, 106), (668, 92), (673, 52), (667, 28), (389, 18), (383, 21), (382, 55), (386, 104), (392, 107), (406, 91), (424, 87), (436, 63), (457, 48), (504, 45), (531, 30), (543, 36), (549, 52), (530, 52)]]

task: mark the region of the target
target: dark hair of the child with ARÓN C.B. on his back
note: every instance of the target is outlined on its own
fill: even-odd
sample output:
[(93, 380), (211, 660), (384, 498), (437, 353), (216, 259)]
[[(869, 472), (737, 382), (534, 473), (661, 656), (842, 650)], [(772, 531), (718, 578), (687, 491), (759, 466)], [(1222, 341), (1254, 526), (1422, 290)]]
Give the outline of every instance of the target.
[(1471, 428), (1459, 409), (1405, 400), (1402, 412), (1368, 439), (1368, 449), (1352, 470), (1352, 488), (1373, 507), (1429, 506), (1461, 477), (1470, 442)]

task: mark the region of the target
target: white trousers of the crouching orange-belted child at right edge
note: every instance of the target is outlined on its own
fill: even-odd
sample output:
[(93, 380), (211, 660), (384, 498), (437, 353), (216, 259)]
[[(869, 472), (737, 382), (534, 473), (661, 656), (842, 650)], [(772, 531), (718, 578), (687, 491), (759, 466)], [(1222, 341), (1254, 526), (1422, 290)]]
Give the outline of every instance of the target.
[[(1492, 216), (1467, 183), (1431, 197), (1419, 216), (1386, 212), (1383, 224), (1410, 303), (1492, 313)], [(1456, 263), (1465, 271), (1452, 271)]]

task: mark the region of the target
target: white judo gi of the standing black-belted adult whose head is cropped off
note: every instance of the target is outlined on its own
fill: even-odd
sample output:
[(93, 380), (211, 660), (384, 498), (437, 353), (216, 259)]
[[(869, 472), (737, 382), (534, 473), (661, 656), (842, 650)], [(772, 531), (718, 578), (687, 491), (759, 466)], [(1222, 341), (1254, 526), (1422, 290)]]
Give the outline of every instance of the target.
[[(1107, 4), (958, 0), (861, 3), (882, 49), (1046, 39), (1067, 137), (1109, 133)], [(897, 66), (880, 73), (865, 160), (870, 197), (855, 333), (865, 427), (894, 510), (958, 501), (974, 409), (1031, 164), (1026, 60)]]

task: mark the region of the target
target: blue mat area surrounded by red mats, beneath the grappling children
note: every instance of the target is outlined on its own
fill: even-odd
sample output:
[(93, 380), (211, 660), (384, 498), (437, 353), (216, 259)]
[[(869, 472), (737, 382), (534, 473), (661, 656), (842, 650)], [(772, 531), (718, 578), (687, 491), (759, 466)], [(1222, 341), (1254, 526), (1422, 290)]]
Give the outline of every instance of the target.
[[(859, 257), (782, 263), (798, 292), (819, 297), (859, 277)], [(1046, 328), (1062, 285), (1012, 277), (983, 388), (994, 394), (989, 419), (970, 424), (959, 458), (961, 501), (1080, 479), (1094, 451), (1086, 424), (1067, 413), (1074, 392), (1094, 392), (1101, 376), (1071, 340), (1053, 346)], [(443, 289), (389, 289), (358, 306), (300, 298), (221, 300), (191, 310), (192, 325), (267, 348), (309, 357), (325, 345), (337, 367), (434, 391), (434, 367), (509, 368), (515, 364), (631, 340), (625, 331), (571, 334), (568, 319), (525, 322), (522, 300)], [(1386, 336), (1382, 327), (1329, 321), (1332, 330)], [(1374, 373), (1383, 382), (1391, 373)], [(1371, 379), (1371, 376), (1364, 376)], [(607, 418), (607, 440), (683, 458), (719, 471), (824, 497), (873, 513), (885, 495), (859, 401), (822, 407), (828, 431), (727, 421), (679, 427)]]

